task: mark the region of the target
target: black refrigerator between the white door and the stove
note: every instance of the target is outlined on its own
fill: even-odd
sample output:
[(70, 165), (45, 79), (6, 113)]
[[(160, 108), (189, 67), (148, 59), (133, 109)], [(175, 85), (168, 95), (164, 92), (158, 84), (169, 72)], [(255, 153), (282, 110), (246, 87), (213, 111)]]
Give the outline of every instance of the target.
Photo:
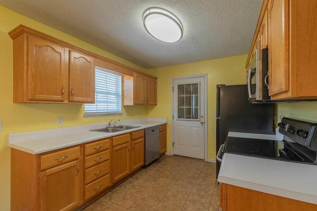
[[(251, 103), (247, 85), (217, 85), (216, 153), (229, 131), (273, 134), (273, 104)], [(216, 177), (220, 163), (216, 161)]]

